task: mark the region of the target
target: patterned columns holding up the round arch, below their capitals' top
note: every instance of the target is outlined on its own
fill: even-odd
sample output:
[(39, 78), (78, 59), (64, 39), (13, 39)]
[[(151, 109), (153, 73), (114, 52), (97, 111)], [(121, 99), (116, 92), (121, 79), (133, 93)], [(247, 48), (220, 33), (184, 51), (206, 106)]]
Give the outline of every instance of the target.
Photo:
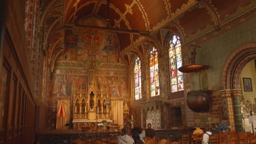
[(223, 104), (223, 115), (229, 118), (229, 124), (233, 131), (243, 131), (241, 115), (241, 89), (224, 89), (220, 92)]

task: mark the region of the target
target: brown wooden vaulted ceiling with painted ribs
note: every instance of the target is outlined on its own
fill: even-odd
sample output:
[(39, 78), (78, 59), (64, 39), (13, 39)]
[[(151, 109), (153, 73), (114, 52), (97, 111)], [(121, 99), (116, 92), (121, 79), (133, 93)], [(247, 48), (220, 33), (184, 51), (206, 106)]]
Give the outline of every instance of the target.
[(129, 62), (130, 52), (164, 47), (168, 33), (189, 43), (255, 9), (254, 0), (109, 0), (109, 25), (95, 26), (79, 22), (90, 17), (107, 22), (106, 0), (42, 0), (41, 5), (44, 51), (53, 63), (74, 28), (115, 32), (119, 53)]

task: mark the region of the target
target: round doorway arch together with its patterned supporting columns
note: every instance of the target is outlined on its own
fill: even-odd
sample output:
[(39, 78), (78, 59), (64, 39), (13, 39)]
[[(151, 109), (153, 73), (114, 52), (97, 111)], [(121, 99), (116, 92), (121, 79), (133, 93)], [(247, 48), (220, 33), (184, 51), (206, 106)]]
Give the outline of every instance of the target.
[(222, 88), (224, 117), (229, 117), (231, 130), (243, 131), (241, 113), (241, 72), (245, 65), (256, 59), (256, 43), (245, 44), (234, 52), (224, 64), (222, 72)]

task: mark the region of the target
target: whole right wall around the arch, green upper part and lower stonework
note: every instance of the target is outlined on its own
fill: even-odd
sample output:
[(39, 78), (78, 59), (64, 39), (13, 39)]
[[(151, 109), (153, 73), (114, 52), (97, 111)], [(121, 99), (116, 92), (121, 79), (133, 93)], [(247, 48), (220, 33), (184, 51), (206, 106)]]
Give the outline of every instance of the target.
[[(197, 44), (201, 48), (196, 50), (196, 63), (209, 65), (210, 68), (203, 71), (203, 73), (206, 73), (206, 78), (204, 79), (207, 80), (200, 80), (202, 72), (191, 74), (193, 79), (191, 85), (193, 85), (194, 89), (208, 88), (212, 91), (212, 108), (208, 113), (194, 113), (188, 110), (188, 116), (194, 113), (195, 123), (219, 123), (222, 119), (223, 104), (219, 91), (225, 89), (221, 87), (224, 64), (232, 57), (231, 53), (238, 49), (238, 47), (255, 42), (255, 35), (253, 34), (256, 32), (255, 22), (255, 18), (237, 21), (235, 25), (222, 27), (219, 31), (210, 36), (208, 35), (207, 37), (210, 37), (210, 39)], [(207, 86), (200, 85), (199, 81), (206, 81), (205, 85)], [(190, 118), (186, 121), (188, 124), (191, 124)]]

